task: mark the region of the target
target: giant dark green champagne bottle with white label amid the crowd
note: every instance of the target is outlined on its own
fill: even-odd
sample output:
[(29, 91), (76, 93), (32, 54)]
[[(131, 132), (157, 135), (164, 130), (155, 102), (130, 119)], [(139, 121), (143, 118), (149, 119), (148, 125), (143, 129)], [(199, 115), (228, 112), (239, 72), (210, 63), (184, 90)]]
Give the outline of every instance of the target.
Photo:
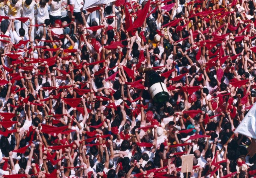
[(169, 100), (168, 90), (162, 78), (152, 68), (140, 67), (139, 72), (145, 72), (145, 81), (153, 100), (158, 104), (165, 104)]

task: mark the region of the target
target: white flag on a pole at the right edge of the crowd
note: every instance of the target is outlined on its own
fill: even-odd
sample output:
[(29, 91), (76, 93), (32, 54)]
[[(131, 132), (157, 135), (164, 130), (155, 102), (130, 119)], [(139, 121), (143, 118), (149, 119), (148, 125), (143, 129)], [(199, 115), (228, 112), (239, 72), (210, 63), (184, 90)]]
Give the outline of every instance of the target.
[(252, 106), (249, 112), (246, 114), (242, 122), (236, 128), (235, 133), (249, 136), (251, 138), (256, 139), (256, 103)]

